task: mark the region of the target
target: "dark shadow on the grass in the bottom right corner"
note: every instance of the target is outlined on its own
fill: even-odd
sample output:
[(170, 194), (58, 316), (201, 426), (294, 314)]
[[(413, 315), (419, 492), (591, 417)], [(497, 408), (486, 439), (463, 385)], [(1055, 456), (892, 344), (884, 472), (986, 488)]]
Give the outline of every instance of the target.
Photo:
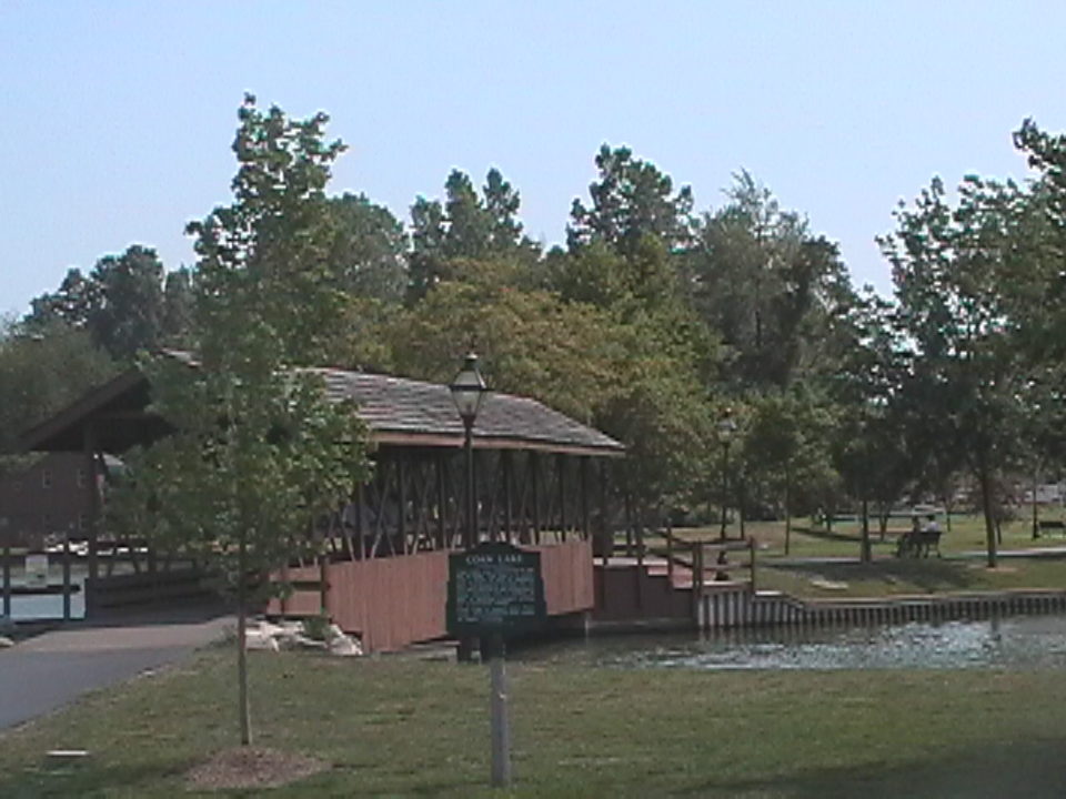
[(812, 769), (771, 780), (707, 781), (678, 791), (782, 799), (1003, 799), (1066, 796), (1064, 739), (1012, 741), (911, 766)]

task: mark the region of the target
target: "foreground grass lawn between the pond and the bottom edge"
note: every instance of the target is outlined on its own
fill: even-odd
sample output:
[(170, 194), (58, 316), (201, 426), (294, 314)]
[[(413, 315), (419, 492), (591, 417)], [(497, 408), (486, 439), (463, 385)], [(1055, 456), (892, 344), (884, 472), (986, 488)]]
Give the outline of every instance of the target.
[[(195, 796), (237, 739), (229, 650), (0, 736), (0, 796)], [(257, 744), (332, 768), (271, 796), (493, 796), (487, 672), (413, 658), (251, 659)], [(515, 796), (1043, 797), (1066, 791), (1045, 671), (694, 671), (512, 664)], [(50, 768), (54, 747), (91, 751)]]

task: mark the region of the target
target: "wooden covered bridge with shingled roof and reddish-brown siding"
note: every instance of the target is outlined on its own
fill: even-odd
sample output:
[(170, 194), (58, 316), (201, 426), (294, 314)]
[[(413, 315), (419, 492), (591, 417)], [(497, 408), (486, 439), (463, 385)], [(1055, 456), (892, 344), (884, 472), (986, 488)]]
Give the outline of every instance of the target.
[[(447, 553), (467, 546), (464, 432), (447, 386), (343, 370), (315, 370), (331, 398), (350, 398), (370, 428), (373, 479), (325, 530), (329, 555), (293, 564), (298, 590), (271, 610), (318, 613), (324, 604), (368, 650), (445, 635)], [(167, 566), (143, 542), (117, 542), (100, 524), (103, 454), (121, 455), (169, 432), (149, 409), (138, 370), (90, 392), (23, 436), (27, 449), (81, 452), (92, 478), (95, 520), (88, 536), (87, 613), (105, 604), (109, 581), (159, 584)], [(551, 616), (592, 609), (592, 538), (609, 520), (610, 458), (624, 447), (526, 397), (490, 393), (473, 428), (479, 540), (542, 553)], [(119, 554), (124, 568), (117, 568)], [(132, 572), (119, 575), (118, 572)], [(310, 589), (313, 587), (313, 589)]]

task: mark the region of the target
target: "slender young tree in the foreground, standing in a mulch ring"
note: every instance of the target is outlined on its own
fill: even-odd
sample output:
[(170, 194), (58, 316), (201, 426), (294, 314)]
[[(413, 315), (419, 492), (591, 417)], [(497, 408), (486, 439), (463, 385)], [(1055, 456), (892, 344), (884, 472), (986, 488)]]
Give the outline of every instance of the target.
[(343, 146), (324, 114), (290, 120), (252, 97), (239, 112), (234, 200), (190, 223), (197, 236), (194, 364), (148, 361), (153, 407), (177, 431), (131, 457), (121, 524), (195, 553), (238, 597), (241, 742), (251, 741), (244, 654), (249, 578), (315, 546), (309, 533), (366, 476), (366, 436), (321, 376), (344, 310), (331, 281), (324, 188)]

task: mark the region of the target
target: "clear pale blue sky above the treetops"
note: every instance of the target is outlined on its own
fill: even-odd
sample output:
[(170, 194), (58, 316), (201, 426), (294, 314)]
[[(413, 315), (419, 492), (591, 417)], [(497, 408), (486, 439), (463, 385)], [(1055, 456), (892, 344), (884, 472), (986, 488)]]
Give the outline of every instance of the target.
[(933, 174), (1024, 176), (1010, 132), (1066, 129), (1066, 3), (0, 0), (0, 313), (131, 243), (192, 263), (229, 199), (245, 91), (324, 110), (332, 191), (406, 219), (499, 166), (559, 242), (602, 142), (697, 208), (750, 170), (889, 290), (873, 243)]

